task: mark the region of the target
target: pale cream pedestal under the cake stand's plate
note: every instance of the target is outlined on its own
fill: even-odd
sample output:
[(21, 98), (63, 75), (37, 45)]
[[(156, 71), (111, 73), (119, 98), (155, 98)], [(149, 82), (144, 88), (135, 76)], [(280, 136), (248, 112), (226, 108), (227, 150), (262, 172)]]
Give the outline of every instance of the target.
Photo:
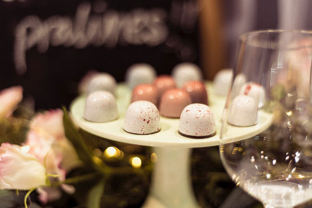
[(197, 208), (190, 174), (190, 148), (154, 147), (152, 187), (143, 208)]

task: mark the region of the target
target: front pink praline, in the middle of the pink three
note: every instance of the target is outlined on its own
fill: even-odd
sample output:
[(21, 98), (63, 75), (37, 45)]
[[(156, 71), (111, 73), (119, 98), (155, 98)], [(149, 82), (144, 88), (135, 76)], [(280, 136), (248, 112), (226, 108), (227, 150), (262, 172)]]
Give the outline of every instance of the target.
[(159, 113), (165, 117), (179, 118), (182, 110), (191, 103), (192, 99), (186, 91), (170, 89), (161, 96)]

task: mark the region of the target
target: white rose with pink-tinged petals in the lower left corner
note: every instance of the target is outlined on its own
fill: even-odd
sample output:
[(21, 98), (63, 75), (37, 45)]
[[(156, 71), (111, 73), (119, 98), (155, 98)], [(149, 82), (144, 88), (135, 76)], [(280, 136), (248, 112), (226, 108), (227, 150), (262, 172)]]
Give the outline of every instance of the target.
[(23, 149), (18, 145), (1, 144), (0, 189), (26, 190), (45, 185), (45, 168), (34, 155), (26, 151), (27, 147)]

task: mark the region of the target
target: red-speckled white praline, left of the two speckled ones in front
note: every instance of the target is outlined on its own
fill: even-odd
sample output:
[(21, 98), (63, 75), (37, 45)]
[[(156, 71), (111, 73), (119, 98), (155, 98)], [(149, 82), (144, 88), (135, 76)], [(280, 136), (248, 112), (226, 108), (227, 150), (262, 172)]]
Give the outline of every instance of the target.
[(160, 118), (157, 107), (145, 100), (129, 105), (123, 129), (129, 133), (151, 134), (160, 131)]

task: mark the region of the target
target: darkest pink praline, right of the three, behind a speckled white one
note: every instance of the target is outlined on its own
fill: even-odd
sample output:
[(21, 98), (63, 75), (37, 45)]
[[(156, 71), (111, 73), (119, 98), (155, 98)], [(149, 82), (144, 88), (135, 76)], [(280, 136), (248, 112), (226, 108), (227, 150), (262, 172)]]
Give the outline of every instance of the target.
[(200, 81), (189, 81), (182, 87), (191, 96), (192, 103), (208, 105), (208, 95), (205, 85)]

